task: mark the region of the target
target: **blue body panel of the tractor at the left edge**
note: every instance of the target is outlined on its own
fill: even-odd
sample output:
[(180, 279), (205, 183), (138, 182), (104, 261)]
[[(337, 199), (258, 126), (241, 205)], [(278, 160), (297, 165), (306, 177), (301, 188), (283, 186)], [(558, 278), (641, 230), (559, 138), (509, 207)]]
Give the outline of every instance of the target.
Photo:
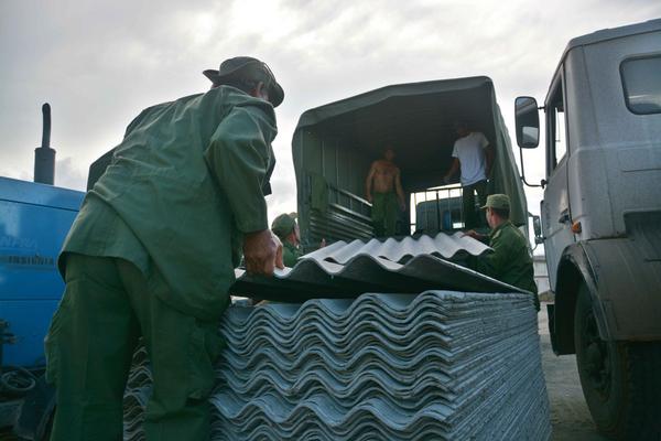
[(64, 291), (57, 254), (84, 195), (0, 178), (0, 319), (15, 337), (3, 365), (44, 363), (44, 335)]

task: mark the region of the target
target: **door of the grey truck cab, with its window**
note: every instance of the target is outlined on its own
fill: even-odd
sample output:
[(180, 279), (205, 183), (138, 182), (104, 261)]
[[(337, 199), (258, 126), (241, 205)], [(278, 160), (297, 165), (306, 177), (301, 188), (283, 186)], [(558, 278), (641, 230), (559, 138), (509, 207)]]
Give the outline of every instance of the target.
[(546, 186), (542, 201), (544, 251), (551, 290), (555, 291), (557, 263), (562, 251), (574, 241), (567, 189), (568, 140), (565, 118), (563, 68), (552, 83), (545, 105), (546, 116)]

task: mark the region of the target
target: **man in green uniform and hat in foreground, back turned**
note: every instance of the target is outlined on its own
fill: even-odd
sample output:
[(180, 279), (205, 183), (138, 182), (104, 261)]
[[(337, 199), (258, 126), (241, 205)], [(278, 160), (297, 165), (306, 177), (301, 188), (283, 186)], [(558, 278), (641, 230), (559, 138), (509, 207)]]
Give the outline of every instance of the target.
[(153, 376), (147, 440), (207, 440), (217, 326), (241, 247), (249, 272), (282, 266), (264, 195), (284, 93), (251, 57), (204, 74), (210, 90), (129, 125), (64, 244), (66, 291), (46, 337), (52, 440), (122, 439), (139, 336)]

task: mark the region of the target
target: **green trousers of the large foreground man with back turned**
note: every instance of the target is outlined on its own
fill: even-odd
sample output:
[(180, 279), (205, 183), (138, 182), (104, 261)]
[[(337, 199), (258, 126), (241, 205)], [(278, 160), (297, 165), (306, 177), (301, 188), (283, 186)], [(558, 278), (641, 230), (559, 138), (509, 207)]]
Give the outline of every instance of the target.
[(148, 441), (208, 440), (217, 323), (170, 308), (164, 289), (127, 260), (67, 256), (66, 290), (46, 336), (46, 378), (56, 386), (52, 441), (122, 439), (122, 397), (139, 336), (151, 359)]

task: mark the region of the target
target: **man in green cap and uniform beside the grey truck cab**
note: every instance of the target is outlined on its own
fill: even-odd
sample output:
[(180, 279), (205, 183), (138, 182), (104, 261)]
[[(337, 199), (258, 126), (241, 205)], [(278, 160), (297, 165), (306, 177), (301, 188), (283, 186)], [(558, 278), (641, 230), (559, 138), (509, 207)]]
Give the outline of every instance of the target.
[(494, 252), (479, 256), (476, 259), (475, 269), (501, 282), (530, 291), (539, 311), (540, 302), (537, 295), (538, 289), (534, 283), (534, 270), (528, 239), (509, 220), (509, 196), (491, 194), (481, 208), (486, 209), (487, 224), (489, 224), (491, 233), (486, 236), (469, 230), (466, 232), (466, 235), (478, 240), (486, 241), (488, 239), (489, 247), (494, 248)]

